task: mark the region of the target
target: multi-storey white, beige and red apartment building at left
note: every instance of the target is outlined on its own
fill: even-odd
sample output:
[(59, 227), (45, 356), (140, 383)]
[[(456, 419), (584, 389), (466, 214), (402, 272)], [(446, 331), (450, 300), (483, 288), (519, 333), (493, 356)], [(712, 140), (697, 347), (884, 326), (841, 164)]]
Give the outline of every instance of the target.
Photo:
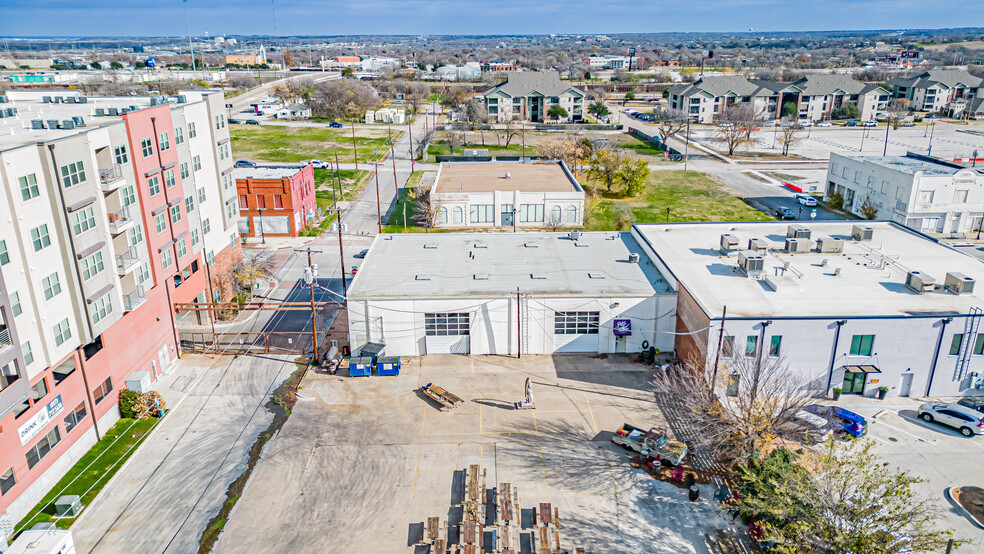
[(126, 380), (177, 358), (172, 307), (208, 297), (238, 210), (220, 92), (0, 107), (0, 514), (16, 521), (118, 419)]

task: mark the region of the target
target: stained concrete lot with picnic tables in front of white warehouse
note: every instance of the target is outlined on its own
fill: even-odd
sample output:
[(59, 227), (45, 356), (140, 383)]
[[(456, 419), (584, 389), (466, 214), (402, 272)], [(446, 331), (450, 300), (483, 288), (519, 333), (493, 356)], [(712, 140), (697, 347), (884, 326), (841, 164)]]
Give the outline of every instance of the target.
[[(454, 483), (481, 464), (487, 486), (510, 483), (522, 507), (558, 507), (570, 550), (708, 552), (705, 534), (731, 531), (710, 487), (691, 503), (609, 441), (625, 421), (662, 423), (649, 375), (626, 356), (578, 355), (428, 356), (398, 377), (309, 374), (216, 551), (413, 552), (427, 517), (455, 520)], [(527, 377), (536, 410), (514, 410)], [(428, 382), (465, 404), (440, 411), (417, 392)]]

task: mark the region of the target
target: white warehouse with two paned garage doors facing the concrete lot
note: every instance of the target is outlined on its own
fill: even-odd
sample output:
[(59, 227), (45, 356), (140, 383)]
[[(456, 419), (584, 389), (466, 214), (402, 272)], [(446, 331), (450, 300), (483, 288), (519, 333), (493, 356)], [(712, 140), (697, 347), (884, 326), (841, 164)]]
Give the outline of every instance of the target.
[(676, 296), (629, 233), (379, 235), (347, 298), (355, 355), (673, 348)]

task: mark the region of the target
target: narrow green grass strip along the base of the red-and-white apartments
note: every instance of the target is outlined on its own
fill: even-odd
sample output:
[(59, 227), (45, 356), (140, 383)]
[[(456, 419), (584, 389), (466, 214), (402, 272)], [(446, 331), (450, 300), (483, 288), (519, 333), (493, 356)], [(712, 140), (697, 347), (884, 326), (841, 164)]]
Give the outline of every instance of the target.
[[(89, 414), (88, 417), (92, 417), (92, 414)], [(79, 495), (82, 499), (84, 513), (84, 508), (92, 503), (103, 486), (123, 465), (123, 462), (133, 454), (135, 449), (131, 450), (131, 447), (139, 444), (158, 421), (160, 420), (151, 417), (141, 419), (136, 423), (132, 419), (121, 419), (116, 422), (116, 425), (106, 431), (103, 438), (94, 444), (58, 481), (58, 484), (52, 487), (51, 491), (41, 499), (41, 502), (31, 510), (28, 514), (30, 519), (25, 518), (17, 524), (17, 529), (30, 529), (36, 523), (52, 521), (61, 529), (71, 527), (76, 518), (56, 519), (54, 517), (54, 501), (57, 500), (57, 497), (66, 494)], [(32, 514), (36, 515), (32, 517)]]

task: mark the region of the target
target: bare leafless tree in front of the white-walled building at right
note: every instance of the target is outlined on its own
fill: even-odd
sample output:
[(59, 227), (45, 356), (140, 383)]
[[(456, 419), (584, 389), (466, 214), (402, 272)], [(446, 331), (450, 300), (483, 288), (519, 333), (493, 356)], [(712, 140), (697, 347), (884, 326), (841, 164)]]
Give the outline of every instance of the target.
[(720, 369), (713, 359), (691, 360), (653, 379), (657, 403), (677, 410), (721, 461), (752, 459), (773, 438), (801, 438), (796, 414), (822, 391), (761, 347), (725, 352)]

